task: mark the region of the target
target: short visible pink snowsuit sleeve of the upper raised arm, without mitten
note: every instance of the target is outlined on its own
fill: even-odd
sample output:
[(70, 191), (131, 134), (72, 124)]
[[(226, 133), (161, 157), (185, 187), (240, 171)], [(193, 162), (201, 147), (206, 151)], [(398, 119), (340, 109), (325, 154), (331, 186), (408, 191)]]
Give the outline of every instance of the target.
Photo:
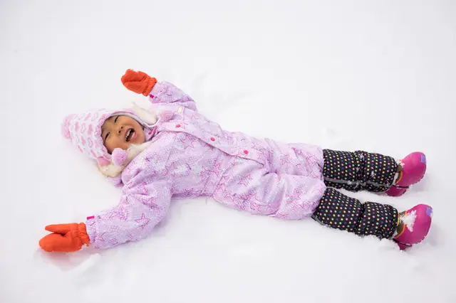
[(177, 103), (184, 107), (189, 108), (190, 110), (197, 110), (195, 101), (187, 95), (185, 92), (182, 92), (180, 88), (175, 85), (167, 82), (158, 82), (152, 88), (152, 91), (148, 95), (150, 102), (152, 103)]

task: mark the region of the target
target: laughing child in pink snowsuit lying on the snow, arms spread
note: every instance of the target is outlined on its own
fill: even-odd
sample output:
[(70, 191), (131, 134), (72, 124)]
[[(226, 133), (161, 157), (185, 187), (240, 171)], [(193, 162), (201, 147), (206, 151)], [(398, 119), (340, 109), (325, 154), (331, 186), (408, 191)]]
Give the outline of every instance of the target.
[(170, 83), (133, 70), (122, 82), (148, 97), (153, 108), (98, 110), (70, 115), (62, 124), (64, 137), (123, 186), (120, 203), (86, 223), (46, 226), (52, 233), (40, 240), (43, 250), (72, 252), (83, 244), (112, 248), (140, 240), (165, 217), (172, 198), (199, 196), (258, 215), (311, 217), (331, 228), (392, 239), (400, 249), (427, 235), (430, 206), (398, 213), (393, 206), (361, 203), (334, 189), (400, 196), (423, 178), (424, 154), (396, 162), (366, 151), (256, 139), (224, 131)]

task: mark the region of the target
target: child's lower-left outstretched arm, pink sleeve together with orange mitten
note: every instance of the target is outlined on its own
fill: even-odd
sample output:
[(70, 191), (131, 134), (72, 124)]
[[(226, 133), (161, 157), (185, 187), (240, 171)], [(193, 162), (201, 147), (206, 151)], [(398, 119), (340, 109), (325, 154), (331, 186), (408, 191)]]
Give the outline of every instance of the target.
[(88, 217), (86, 223), (46, 226), (53, 233), (40, 240), (41, 248), (48, 252), (73, 252), (86, 244), (105, 249), (145, 238), (167, 213), (170, 184), (160, 180), (124, 191), (118, 206)]

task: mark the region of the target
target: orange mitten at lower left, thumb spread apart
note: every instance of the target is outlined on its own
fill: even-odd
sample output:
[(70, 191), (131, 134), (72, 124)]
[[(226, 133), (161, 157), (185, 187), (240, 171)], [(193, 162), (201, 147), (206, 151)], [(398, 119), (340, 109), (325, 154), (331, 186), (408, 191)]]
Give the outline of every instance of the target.
[(52, 233), (40, 240), (40, 246), (47, 252), (76, 252), (90, 243), (84, 223), (47, 225), (46, 230)]

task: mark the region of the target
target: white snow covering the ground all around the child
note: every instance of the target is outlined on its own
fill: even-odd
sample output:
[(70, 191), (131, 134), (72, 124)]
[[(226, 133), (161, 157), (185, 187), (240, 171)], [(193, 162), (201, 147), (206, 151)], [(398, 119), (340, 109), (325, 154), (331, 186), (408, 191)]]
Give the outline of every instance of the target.
[[(456, 302), (455, 14), (424, 0), (1, 1), (0, 302)], [(425, 151), (427, 176), (404, 196), (350, 195), (428, 203), (430, 234), (400, 252), (199, 198), (138, 243), (42, 252), (45, 225), (118, 201), (60, 123), (139, 100), (120, 83), (127, 68), (175, 83), (232, 131)]]

